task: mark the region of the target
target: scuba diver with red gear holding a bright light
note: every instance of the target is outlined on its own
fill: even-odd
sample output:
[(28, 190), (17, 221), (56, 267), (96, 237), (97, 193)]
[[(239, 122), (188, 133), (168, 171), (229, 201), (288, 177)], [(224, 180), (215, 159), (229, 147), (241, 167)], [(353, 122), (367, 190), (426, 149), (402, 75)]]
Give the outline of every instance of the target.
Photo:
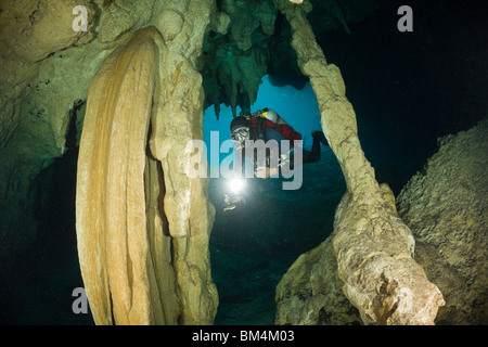
[[(247, 140), (275, 140), (278, 142), (280, 153), (280, 163), (278, 166), (270, 165), (269, 155), (266, 157), (266, 163), (257, 163), (255, 155), (255, 176), (262, 179), (275, 177), (279, 172), (279, 167), (285, 169), (288, 167), (293, 169), (294, 162), (294, 141), (301, 140), (301, 134), (293, 129), (278, 113), (271, 108), (258, 110), (256, 113), (241, 112), (239, 117), (235, 117), (231, 125), (231, 139), (236, 142), (236, 151), (245, 149)], [(311, 151), (303, 150), (303, 164), (316, 163), (320, 160), (320, 143), (329, 145), (323, 131), (314, 130), (311, 132), (313, 143)], [(281, 141), (290, 140), (290, 150), (283, 153), (281, 149)], [(285, 150), (286, 151), (286, 150)], [(244, 157), (244, 156), (243, 156)], [(287, 165), (285, 165), (287, 164)]]

